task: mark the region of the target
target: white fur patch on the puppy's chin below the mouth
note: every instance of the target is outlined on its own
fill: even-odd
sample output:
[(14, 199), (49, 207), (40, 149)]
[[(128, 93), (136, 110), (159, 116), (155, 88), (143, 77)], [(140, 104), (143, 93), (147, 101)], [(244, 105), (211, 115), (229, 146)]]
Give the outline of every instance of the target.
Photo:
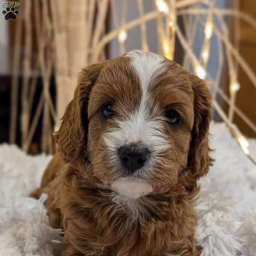
[(152, 186), (145, 180), (132, 177), (119, 178), (111, 185), (119, 195), (125, 198), (137, 199), (152, 192)]

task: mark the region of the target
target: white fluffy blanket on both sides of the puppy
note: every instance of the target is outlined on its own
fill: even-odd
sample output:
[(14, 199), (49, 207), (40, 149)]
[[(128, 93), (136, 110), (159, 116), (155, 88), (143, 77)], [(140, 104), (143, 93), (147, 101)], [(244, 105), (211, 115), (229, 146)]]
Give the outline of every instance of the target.
[[(201, 179), (196, 237), (202, 256), (256, 255), (256, 167), (241, 152), (224, 124), (211, 125), (216, 159)], [(256, 140), (250, 141), (256, 152)], [(43, 202), (29, 198), (50, 156), (28, 156), (15, 145), (0, 145), (0, 255), (59, 255), (61, 230), (49, 227)]]

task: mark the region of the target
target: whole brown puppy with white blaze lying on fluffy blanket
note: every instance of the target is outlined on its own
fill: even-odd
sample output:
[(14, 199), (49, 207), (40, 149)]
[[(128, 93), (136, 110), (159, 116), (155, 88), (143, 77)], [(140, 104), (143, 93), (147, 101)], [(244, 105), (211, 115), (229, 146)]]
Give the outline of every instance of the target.
[(132, 51), (79, 76), (38, 197), (62, 256), (197, 256), (211, 96), (174, 61)]

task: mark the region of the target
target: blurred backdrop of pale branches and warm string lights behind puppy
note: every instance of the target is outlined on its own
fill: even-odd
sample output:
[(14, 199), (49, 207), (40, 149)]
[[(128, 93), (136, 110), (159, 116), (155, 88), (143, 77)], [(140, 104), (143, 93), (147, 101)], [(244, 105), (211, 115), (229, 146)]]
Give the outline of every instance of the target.
[(143, 49), (210, 82), (212, 119), (255, 162), (247, 137), (256, 137), (256, 1), (2, 0), (0, 8), (0, 143), (50, 153), (81, 67)]

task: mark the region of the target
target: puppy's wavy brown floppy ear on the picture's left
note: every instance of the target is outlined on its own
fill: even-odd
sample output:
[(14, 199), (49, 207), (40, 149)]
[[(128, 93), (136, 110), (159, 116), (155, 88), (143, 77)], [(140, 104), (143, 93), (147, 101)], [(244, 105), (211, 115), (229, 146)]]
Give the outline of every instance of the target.
[(101, 64), (93, 64), (81, 71), (73, 100), (67, 105), (61, 127), (55, 133), (58, 151), (65, 163), (77, 160), (87, 146), (87, 106), (90, 91), (95, 84)]

